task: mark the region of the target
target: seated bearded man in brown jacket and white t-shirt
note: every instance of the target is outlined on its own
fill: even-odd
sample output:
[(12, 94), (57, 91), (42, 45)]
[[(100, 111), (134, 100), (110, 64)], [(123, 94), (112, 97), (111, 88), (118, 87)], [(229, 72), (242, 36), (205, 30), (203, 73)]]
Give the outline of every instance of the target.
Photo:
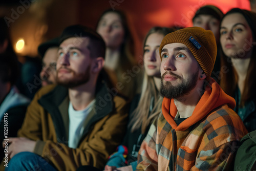
[(122, 140), (127, 119), (125, 100), (106, 87), (102, 76), (104, 55), (104, 41), (94, 30), (75, 25), (62, 32), (58, 86), (35, 95), (19, 138), (9, 138), (6, 169), (103, 169)]

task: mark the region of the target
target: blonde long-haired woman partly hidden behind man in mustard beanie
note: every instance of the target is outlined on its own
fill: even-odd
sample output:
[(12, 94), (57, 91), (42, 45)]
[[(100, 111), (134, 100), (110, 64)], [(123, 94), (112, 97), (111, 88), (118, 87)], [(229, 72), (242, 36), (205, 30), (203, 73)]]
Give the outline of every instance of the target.
[(140, 145), (151, 123), (161, 112), (162, 97), (159, 94), (161, 59), (159, 46), (163, 37), (174, 29), (154, 27), (144, 41), (144, 79), (141, 95), (136, 95), (130, 108), (129, 125), (122, 145), (113, 154), (105, 166), (106, 170), (132, 165), (136, 169)]

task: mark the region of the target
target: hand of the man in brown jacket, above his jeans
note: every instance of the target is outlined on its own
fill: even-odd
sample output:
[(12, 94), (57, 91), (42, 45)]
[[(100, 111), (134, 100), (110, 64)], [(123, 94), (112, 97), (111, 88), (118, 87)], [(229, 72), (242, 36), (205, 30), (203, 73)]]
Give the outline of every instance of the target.
[[(8, 145), (8, 157), (11, 159), (15, 154), (20, 152), (33, 152), (35, 147), (35, 141), (32, 141), (28, 138), (19, 137), (19, 138), (8, 138), (10, 143)], [(4, 141), (5, 142), (5, 141)], [(3, 147), (5, 144), (3, 142)]]

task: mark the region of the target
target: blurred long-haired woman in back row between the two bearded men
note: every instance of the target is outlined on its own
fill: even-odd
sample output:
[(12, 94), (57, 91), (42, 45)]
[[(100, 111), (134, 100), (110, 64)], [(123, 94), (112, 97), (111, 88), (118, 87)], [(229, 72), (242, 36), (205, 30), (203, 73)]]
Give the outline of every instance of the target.
[(118, 92), (132, 99), (139, 93), (140, 68), (134, 56), (134, 40), (126, 16), (118, 10), (106, 10), (96, 28), (106, 44), (105, 71)]

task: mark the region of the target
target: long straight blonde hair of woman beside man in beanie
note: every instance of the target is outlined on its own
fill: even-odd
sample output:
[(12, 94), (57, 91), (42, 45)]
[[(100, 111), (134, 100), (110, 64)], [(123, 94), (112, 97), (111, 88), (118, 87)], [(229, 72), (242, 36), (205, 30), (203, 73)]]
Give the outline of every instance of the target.
[[(170, 32), (175, 31), (175, 29), (165, 28), (165, 27), (153, 27), (146, 35), (144, 40), (144, 46), (146, 39), (149, 35), (153, 33), (160, 33), (164, 36)], [(160, 74), (160, 73), (159, 73)], [(154, 97), (154, 108), (150, 111), (151, 99)], [(156, 83), (153, 76), (148, 76), (144, 72), (144, 78), (142, 83), (142, 92), (137, 108), (132, 113), (132, 120), (129, 126), (132, 126), (132, 132), (140, 129), (142, 134), (145, 133), (147, 126), (152, 123), (152, 121), (160, 114), (162, 111), (163, 98), (160, 96)]]

